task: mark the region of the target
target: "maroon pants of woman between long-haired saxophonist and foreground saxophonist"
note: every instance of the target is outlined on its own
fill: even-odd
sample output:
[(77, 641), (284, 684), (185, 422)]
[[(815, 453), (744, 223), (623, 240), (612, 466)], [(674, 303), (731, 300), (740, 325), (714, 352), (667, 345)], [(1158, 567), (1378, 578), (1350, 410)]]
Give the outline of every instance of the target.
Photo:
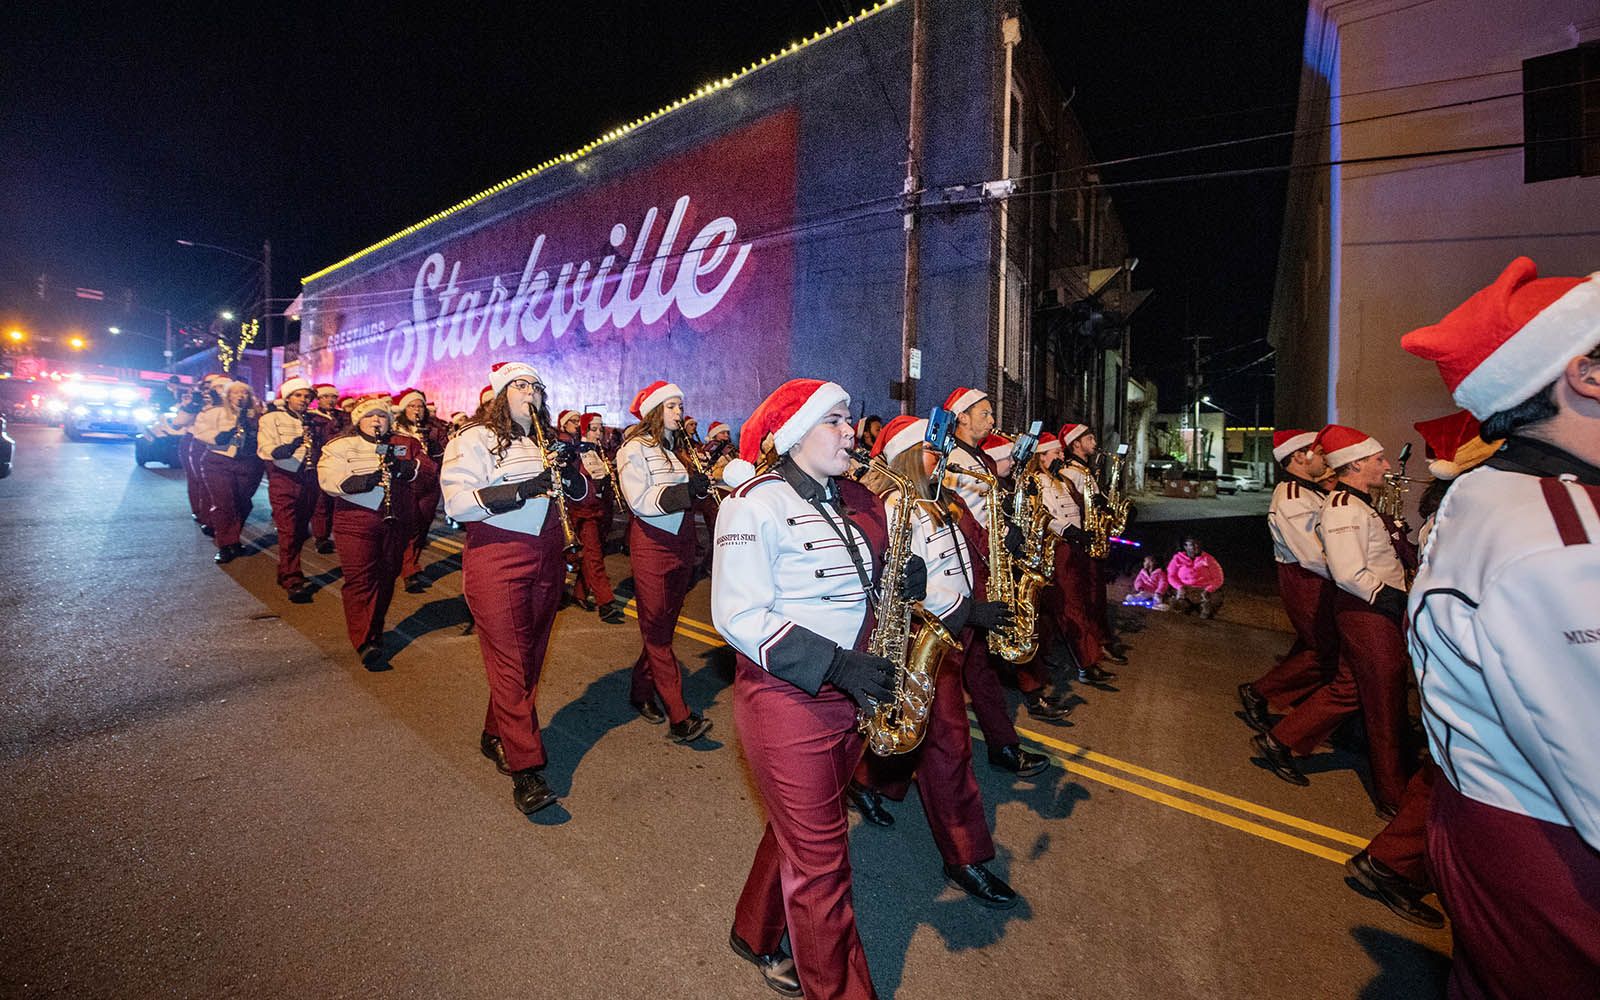
[(645, 643), (634, 661), (629, 699), (643, 704), (656, 696), (667, 720), (678, 723), (690, 717), (690, 709), (683, 702), (683, 674), (672, 651), (672, 635), (694, 573), (694, 509), (683, 512), (677, 534), (635, 517), (627, 526), (627, 538), (638, 634)]

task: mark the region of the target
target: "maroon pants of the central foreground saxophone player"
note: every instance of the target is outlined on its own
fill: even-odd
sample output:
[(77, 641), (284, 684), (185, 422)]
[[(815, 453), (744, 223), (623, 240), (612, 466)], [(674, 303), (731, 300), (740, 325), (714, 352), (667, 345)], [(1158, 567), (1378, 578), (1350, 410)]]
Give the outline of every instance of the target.
[(854, 702), (827, 685), (813, 698), (739, 654), (733, 723), (766, 806), (733, 933), (766, 955), (787, 930), (811, 1000), (877, 997), (856, 933), (843, 800), (862, 752)]

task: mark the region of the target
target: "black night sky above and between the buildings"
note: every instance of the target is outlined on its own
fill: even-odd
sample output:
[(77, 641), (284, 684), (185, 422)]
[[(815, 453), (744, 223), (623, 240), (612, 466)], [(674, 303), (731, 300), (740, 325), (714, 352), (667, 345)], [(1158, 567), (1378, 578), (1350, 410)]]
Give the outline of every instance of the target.
[[(158, 365), (158, 312), (203, 326), (259, 294), (253, 264), (176, 240), (259, 256), (270, 238), (275, 296), (293, 298), (302, 275), (856, 8), (390, 10), (8, 11), (0, 322), (29, 322), (46, 275), (66, 312), (126, 331), (96, 339), (99, 360)], [(1054, 0), (1027, 14), (1066, 90), (1077, 88), (1072, 107), (1101, 160), (1293, 128), (1304, 3)], [(1102, 179), (1280, 165), (1288, 152), (1286, 139), (1251, 142)], [(1184, 390), (1186, 301), (1194, 331), (1216, 338), (1213, 397), (1245, 418), (1235, 422), (1253, 419), (1258, 387), (1269, 405), (1270, 386), (1251, 374), (1270, 362), (1224, 373), (1267, 352), (1283, 194), (1283, 173), (1115, 194), (1141, 259), (1136, 285), (1155, 288), (1134, 350), (1163, 408)], [(75, 286), (107, 302), (70, 301)]]

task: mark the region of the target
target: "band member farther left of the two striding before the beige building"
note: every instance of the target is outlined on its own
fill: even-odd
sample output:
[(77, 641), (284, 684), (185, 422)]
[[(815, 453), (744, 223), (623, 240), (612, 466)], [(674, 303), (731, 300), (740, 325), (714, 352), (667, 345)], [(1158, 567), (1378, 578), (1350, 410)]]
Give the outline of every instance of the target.
[(1245, 722), (1258, 733), (1272, 728), (1270, 706), (1299, 704), (1339, 669), (1333, 581), (1317, 538), (1317, 520), (1328, 499), (1317, 480), (1328, 469), (1326, 456), (1315, 430), (1275, 430), (1272, 458), (1283, 469), (1283, 478), (1272, 488), (1267, 531), (1278, 566), (1278, 598), (1294, 627), (1294, 645), (1275, 667), (1238, 685)]

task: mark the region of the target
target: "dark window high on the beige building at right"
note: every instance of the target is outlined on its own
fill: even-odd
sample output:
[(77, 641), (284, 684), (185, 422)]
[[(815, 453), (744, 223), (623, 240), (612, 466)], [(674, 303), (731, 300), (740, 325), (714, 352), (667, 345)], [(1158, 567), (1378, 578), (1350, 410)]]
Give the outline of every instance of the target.
[(1522, 179), (1600, 176), (1600, 43), (1522, 62)]

